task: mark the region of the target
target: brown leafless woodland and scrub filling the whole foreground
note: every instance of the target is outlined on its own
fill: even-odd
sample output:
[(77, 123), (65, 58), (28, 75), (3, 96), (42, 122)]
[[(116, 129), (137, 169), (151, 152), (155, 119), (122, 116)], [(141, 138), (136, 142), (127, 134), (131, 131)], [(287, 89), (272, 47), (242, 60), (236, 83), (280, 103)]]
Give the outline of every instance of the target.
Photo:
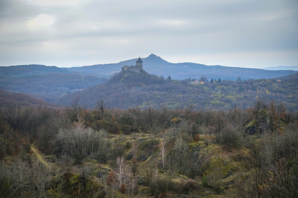
[(108, 102), (2, 105), (1, 197), (298, 196), (298, 111), (283, 102), (227, 111)]

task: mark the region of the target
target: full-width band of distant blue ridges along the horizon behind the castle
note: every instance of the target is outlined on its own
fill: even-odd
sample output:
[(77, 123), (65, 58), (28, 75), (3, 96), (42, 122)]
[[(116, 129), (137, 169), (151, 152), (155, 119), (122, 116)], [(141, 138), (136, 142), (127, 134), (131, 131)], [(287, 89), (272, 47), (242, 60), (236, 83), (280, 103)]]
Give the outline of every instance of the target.
[[(45, 66), (45, 65), (17, 65), (9, 67), (0, 67), (0, 78), (8, 77), (24, 77), (31, 75), (44, 75), (49, 73), (64, 73), (64, 74), (78, 74), (81, 75), (95, 75), (98, 77), (111, 77), (115, 73), (121, 71), (121, 67), (124, 65), (135, 65), (135, 59), (125, 60), (118, 63), (111, 64), (99, 64), (83, 67), (70, 67), (70, 68), (59, 68), (56, 66)], [(201, 76), (206, 76), (209, 80), (211, 78), (221, 78), (236, 80), (238, 77), (242, 79), (254, 78), (278, 78), (280, 76), (287, 76), (290, 74), (297, 73), (298, 67), (286, 67), (279, 66), (273, 67), (274, 70), (267, 69), (253, 69), (253, 68), (241, 68), (241, 67), (225, 67), (221, 65), (203, 65), (198, 63), (170, 63), (162, 59), (155, 54), (150, 54), (148, 57), (142, 58), (143, 69), (157, 76), (164, 76), (167, 78), (171, 76), (172, 79), (184, 80), (186, 78), (200, 79)], [(288, 70), (292, 68), (293, 70)], [(284, 69), (284, 70), (276, 70)], [(297, 69), (297, 70), (296, 70)], [(294, 71), (296, 70), (296, 71)]]

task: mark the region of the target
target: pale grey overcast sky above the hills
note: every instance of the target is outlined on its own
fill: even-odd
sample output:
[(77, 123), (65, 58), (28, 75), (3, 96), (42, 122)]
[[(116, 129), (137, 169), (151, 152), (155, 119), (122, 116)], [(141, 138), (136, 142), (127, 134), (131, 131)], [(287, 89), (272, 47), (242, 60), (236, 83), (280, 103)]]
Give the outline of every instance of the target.
[(0, 66), (298, 66), (297, 0), (0, 0)]

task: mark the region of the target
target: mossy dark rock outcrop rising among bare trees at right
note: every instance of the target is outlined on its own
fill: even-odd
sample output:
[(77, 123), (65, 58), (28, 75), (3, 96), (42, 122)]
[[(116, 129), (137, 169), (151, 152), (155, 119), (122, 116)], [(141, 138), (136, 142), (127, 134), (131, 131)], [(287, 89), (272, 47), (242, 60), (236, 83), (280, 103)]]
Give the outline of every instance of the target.
[(262, 133), (270, 129), (270, 126), (268, 113), (265, 110), (260, 110), (255, 116), (255, 119), (246, 126), (245, 131), (249, 135), (253, 135), (256, 132)]

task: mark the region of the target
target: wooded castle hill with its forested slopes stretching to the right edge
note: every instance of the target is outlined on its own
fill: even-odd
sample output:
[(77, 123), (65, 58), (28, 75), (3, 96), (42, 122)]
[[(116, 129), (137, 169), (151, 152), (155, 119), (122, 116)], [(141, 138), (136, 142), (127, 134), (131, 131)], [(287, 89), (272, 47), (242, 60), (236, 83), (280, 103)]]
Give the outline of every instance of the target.
[(254, 106), (257, 99), (283, 101), (288, 109), (297, 110), (298, 74), (283, 77), (281, 83), (268, 79), (238, 81), (215, 80), (213, 83), (191, 84), (187, 80), (163, 79), (148, 73), (120, 72), (104, 84), (64, 95), (58, 103), (78, 104), (94, 108), (101, 98), (109, 108), (183, 109), (193, 104), (195, 109), (228, 110)]

